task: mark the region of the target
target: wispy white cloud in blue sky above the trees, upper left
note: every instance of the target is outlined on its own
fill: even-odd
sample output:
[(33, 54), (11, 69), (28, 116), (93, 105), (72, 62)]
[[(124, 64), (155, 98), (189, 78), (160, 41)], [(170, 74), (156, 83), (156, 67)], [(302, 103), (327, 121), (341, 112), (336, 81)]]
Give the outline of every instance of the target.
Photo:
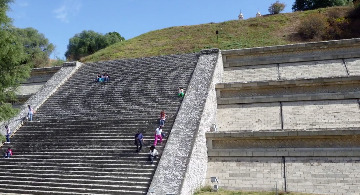
[(60, 19), (64, 23), (69, 22), (69, 14), (73, 13), (73, 15), (76, 15), (80, 11), (81, 3), (78, 0), (75, 1), (65, 1), (64, 4), (54, 10), (55, 18)]

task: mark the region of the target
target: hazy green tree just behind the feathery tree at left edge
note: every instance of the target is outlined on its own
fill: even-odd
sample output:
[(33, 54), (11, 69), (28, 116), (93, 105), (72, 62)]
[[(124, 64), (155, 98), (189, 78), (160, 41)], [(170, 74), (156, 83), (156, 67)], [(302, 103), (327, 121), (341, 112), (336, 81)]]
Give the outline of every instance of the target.
[(49, 43), (44, 34), (39, 33), (34, 28), (17, 28), (16, 33), (24, 46), (25, 53), (31, 55), (34, 68), (48, 66), (50, 63), (49, 56), (55, 49), (53, 43)]

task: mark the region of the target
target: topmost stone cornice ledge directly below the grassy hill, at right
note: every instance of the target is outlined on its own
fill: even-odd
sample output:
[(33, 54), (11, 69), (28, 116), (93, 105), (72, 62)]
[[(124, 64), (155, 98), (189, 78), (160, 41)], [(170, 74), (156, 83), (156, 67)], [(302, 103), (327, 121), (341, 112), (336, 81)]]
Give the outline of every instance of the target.
[(301, 50), (314, 50), (318, 48), (336, 48), (347, 46), (359, 46), (360, 38), (336, 40), (336, 41), (322, 41), (311, 43), (298, 43), (292, 45), (279, 45), (268, 47), (255, 47), (236, 50), (224, 50), (222, 55), (256, 55), (264, 53), (274, 53), (283, 51), (301, 51)]

